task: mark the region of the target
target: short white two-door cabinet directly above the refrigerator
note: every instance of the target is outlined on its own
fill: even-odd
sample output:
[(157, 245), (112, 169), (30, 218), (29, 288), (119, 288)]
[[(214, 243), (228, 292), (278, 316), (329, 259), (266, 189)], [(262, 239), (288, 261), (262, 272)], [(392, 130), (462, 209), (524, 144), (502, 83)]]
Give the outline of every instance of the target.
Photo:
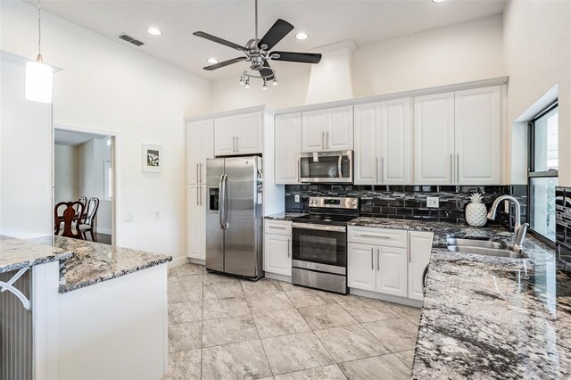
[(217, 156), (261, 153), (261, 112), (214, 119)]

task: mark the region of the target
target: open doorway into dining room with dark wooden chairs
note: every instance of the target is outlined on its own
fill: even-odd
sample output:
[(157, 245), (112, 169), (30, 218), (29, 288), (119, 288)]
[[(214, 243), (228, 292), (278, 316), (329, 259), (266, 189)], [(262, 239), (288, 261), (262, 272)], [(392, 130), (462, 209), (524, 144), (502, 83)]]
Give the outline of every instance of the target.
[[(54, 206), (79, 201), (84, 238), (114, 244), (115, 136), (54, 128)], [(63, 210), (63, 208), (62, 208)]]

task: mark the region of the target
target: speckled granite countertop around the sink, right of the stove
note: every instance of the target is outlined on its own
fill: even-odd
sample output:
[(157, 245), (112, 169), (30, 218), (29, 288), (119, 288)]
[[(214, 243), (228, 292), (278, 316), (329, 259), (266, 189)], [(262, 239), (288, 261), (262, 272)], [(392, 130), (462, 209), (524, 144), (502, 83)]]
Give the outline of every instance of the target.
[(502, 227), (360, 218), (353, 226), (434, 231), (412, 378), (571, 377), (571, 277), (526, 237), (522, 260), (451, 252), (446, 239), (509, 241)]

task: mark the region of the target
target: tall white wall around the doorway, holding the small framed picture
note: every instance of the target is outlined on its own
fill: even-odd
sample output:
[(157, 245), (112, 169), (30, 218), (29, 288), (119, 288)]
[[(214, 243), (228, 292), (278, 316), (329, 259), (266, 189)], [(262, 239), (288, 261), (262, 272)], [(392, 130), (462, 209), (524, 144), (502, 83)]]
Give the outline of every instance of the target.
[[(36, 8), (21, 1), (0, 6), (1, 48), (35, 58)], [(116, 243), (183, 256), (183, 118), (210, 111), (210, 82), (50, 13), (42, 22), (44, 61), (63, 69), (54, 77), (54, 123), (119, 134)], [(142, 143), (163, 146), (161, 173), (142, 172)], [(51, 145), (44, 136), (37, 144)], [(124, 221), (128, 213), (133, 222)]]

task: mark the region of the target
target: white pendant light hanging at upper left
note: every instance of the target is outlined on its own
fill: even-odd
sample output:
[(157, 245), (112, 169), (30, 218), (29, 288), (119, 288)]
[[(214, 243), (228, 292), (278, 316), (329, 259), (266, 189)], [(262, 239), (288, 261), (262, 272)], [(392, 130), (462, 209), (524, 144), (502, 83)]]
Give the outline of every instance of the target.
[(42, 59), (42, 24), (39, 0), (37, 0), (37, 33), (36, 62), (26, 62), (26, 99), (40, 103), (52, 103), (54, 70)]

